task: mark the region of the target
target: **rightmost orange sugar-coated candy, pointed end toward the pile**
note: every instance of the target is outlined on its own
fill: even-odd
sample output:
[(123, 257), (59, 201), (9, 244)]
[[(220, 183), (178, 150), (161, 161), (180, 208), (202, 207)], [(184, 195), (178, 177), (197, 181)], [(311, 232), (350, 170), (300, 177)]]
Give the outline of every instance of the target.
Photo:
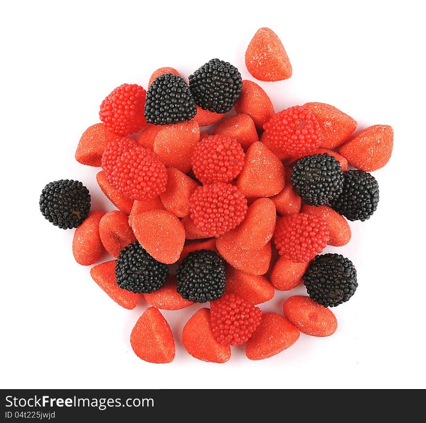
[(340, 147), (339, 153), (357, 169), (372, 172), (389, 162), (393, 145), (392, 126), (373, 125), (351, 137)]

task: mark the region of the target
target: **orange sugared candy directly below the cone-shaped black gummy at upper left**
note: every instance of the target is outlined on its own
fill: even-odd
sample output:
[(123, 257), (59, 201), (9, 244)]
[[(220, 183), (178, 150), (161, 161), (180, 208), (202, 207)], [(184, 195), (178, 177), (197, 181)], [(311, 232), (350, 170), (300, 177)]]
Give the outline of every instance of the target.
[(192, 151), (200, 137), (197, 122), (187, 121), (164, 125), (154, 140), (154, 151), (167, 167), (176, 167), (183, 173), (191, 170)]

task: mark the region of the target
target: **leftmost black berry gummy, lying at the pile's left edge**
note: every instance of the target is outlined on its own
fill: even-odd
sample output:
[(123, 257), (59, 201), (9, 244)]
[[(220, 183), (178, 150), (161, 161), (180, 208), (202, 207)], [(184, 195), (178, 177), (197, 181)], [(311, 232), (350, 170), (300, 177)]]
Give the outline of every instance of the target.
[(40, 211), (50, 223), (61, 229), (78, 227), (90, 211), (89, 190), (72, 179), (50, 182), (40, 196)]

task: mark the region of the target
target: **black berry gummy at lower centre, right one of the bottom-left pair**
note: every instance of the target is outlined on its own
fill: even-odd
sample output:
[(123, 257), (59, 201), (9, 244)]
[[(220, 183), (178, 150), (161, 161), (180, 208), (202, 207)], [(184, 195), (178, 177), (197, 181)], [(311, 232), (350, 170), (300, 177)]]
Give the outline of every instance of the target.
[(214, 301), (225, 291), (225, 264), (214, 251), (189, 253), (176, 272), (178, 292), (193, 302)]

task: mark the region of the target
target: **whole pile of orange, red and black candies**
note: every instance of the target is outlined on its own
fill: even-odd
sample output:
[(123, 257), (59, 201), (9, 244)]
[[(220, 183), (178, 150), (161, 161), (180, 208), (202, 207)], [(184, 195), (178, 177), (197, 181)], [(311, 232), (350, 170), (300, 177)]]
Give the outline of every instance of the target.
[[(292, 72), (268, 28), (256, 32), (245, 63), (261, 81)], [(188, 320), (183, 345), (207, 362), (227, 362), (233, 345), (246, 343), (246, 356), (260, 360), (300, 332), (333, 334), (328, 307), (348, 301), (358, 283), (348, 258), (320, 253), (350, 241), (346, 219), (376, 210), (379, 187), (367, 172), (389, 161), (392, 128), (353, 135), (357, 122), (324, 103), (275, 113), (258, 84), (219, 59), (189, 84), (176, 69), (158, 69), (148, 87), (113, 90), (76, 150), (81, 164), (102, 167), (96, 179), (119, 210), (91, 211), (89, 191), (73, 180), (47, 184), (40, 198), (47, 220), (76, 228), (77, 263), (93, 265), (105, 251), (116, 258), (91, 268), (112, 300), (133, 309), (143, 296), (151, 305), (130, 334), (137, 356), (171, 362), (173, 334), (159, 309), (195, 302), (210, 309)], [(283, 315), (256, 307), (302, 281), (308, 295), (289, 297)]]

